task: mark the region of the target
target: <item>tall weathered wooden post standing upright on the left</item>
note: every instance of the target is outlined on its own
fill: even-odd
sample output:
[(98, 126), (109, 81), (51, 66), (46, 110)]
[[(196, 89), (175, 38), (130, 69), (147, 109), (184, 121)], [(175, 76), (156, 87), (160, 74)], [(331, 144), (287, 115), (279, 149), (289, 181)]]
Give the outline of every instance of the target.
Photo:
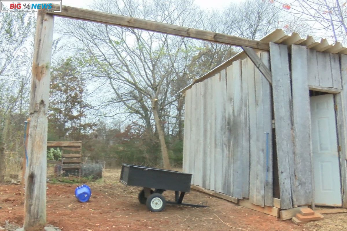
[(53, 15), (38, 12), (30, 97), (30, 131), (25, 187), (25, 231), (46, 224), (47, 110), (53, 40)]

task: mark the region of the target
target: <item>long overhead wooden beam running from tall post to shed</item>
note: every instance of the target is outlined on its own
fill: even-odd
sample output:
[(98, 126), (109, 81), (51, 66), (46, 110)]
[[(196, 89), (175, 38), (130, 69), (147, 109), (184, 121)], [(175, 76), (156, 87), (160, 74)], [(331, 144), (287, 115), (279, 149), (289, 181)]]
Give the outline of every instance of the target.
[(100, 11), (87, 10), (69, 6), (62, 6), (62, 12), (54, 12), (54, 10), (60, 10), (60, 6), (53, 4), (52, 9), (47, 13), (59, 17), (73, 18), (107, 25), (148, 30), (163, 34), (195, 38), (203, 41), (221, 43), (231, 46), (245, 46), (256, 48), (259, 50), (269, 51), (268, 43), (247, 38), (240, 38), (232, 35), (209, 32), (206, 30), (193, 29), (183, 26), (171, 25), (167, 23), (160, 23), (151, 20), (132, 18), (128, 16), (109, 14)]

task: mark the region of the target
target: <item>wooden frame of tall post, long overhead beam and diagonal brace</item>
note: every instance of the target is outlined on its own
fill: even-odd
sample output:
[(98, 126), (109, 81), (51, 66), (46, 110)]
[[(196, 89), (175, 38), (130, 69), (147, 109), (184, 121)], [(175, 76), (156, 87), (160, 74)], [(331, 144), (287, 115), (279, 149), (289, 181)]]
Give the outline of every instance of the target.
[[(27, 149), (30, 158), (26, 169), (25, 230), (42, 230), (46, 224), (46, 146), (48, 125), (46, 114), (49, 104), (54, 16), (240, 46), (271, 84), (269, 69), (266, 68), (253, 50), (255, 48), (269, 51), (269, 44), (266, 42), (94, 10), (68, 6), (60, 8), (59, 5), (54, 4), (52, 6), (50, 11), (40, 11), (37, 14), (29, 107), (31, 129), (29, 131)], [(62, 12), (54, 12), (60, 9), (62, 9)]]

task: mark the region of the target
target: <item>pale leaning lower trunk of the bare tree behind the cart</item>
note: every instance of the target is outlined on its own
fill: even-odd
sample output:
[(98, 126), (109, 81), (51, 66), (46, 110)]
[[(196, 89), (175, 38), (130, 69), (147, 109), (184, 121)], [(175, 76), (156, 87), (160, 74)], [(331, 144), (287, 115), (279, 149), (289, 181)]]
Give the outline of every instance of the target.
[(156, 130), (158, 131), (158, 136), (160, 140), (161, 156), (163, 158), (164, 169), (171, 169), (168, 149), (165, 143), (165, 134), (163, 128), (160, 124), (159, 112), (158, 112), (158, 99), (152, 100), (153, 116), (155, 121)]

